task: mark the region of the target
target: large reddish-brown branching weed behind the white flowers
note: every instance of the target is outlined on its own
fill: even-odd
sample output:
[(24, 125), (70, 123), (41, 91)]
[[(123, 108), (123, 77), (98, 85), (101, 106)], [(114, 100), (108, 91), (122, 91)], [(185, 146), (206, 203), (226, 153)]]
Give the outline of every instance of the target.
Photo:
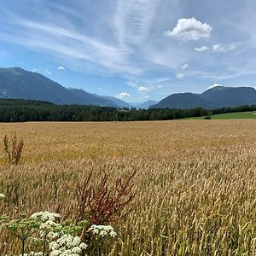
[(108, 173), (104, 173), (97, 187), (90, 183), (92, 172), (89, 177), (79, 184), (77, 193), (77, 216), (76, 221), (88, 219), (88, 225), (84, 226), (80, 236), (81, 241), (86, 240), (88, 228), (91, 224), (108, 224), (109, 222), (118, 221), (131, 212), (131, 208), (127, 205), (135, 196), (133, 191), (134, 184), (132, 183), (136, 172), (133, 172), (130, 177), (117, 178), (114, 186), (108, 185)]

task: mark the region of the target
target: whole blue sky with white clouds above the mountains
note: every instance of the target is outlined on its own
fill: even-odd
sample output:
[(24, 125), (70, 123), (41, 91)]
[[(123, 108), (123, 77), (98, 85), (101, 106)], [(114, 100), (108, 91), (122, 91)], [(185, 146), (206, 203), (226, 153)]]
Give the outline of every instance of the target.
[(0, 67), (126, 102), (256, 85), (255, 0), (1, 0)]

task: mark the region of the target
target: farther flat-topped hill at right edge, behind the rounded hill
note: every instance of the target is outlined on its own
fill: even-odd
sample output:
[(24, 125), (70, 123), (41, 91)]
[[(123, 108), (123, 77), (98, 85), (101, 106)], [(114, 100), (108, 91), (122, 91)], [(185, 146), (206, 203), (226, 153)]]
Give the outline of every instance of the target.
[(236, 107), (256, 104), (256, 90), (251, 87), (217, 86), (200, 95), (207, 101), (215, 102), (219, 107)]

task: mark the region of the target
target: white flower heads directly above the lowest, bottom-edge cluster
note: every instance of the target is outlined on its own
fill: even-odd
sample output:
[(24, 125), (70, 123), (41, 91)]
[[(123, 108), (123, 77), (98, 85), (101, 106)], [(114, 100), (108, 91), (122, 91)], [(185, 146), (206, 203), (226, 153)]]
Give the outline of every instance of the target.
[(30, 218), (35, 218), (42, 222), (39, 227), (41, 237), (47, 235), (50, 240), (53, 240), (60, 236), (59, 232), (55, 232), (57, 228), (61, 228), (61, 224), (55, 223), (55, 218), (60, 217), (59, 213), (46, 211), (35, 212)]

